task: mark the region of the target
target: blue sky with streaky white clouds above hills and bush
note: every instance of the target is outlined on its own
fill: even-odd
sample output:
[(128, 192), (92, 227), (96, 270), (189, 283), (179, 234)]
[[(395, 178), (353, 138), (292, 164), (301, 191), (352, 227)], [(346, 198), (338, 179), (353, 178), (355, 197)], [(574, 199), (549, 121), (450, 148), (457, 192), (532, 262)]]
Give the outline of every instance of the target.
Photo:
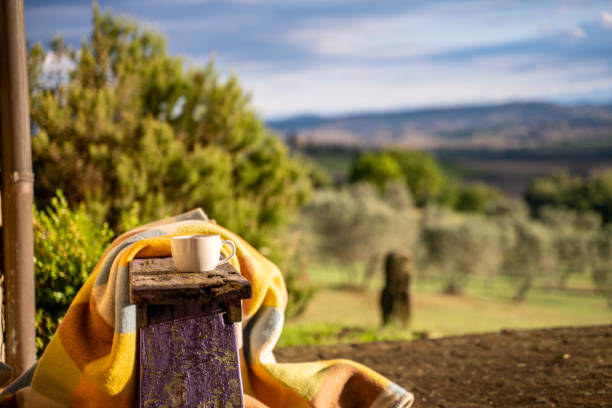
[[(25, 0), (26, 37), (73, 46), (87, 0)], [(612, 0), (99, 0), (214, 55), (267, 119), (538, 100), (612, 102)]]

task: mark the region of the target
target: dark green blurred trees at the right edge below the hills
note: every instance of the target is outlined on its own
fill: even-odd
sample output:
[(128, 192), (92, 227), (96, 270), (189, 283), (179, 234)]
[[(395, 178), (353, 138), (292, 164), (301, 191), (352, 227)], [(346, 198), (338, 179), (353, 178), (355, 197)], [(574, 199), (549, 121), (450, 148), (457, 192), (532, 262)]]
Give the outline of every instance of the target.
[(532, 213), (540, 215), (544, 207), (564, 207), (594, 211), (604, 223), (612, 221), (612, 170), (593, 172), (588, 178), (558, 172), (532, 180), (525, 200)]

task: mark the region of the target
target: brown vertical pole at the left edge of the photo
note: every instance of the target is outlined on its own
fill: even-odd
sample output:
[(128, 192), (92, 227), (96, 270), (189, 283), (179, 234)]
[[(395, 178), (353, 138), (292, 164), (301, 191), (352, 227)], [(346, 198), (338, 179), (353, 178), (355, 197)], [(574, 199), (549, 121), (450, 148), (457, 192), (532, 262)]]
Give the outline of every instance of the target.
[(19, 375), (36, 360), (34, 174), (22, 0), (0, 0), (0, 94), (6, 360)]

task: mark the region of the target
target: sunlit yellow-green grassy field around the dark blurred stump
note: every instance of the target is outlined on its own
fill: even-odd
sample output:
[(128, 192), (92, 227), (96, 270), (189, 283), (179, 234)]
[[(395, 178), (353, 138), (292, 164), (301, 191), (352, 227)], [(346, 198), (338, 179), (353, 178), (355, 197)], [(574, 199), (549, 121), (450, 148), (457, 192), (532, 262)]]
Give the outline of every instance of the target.
[[(355, 279), (351, 279), (351, 277)], [(358, 269), (329, 266), (311, 268), (310, 284), (319, 289), (303, 314), (289, 319), (280, 346), (333, 344), (357, 341), (400, 340), (554, 326), (609, 324), (612, 310), (603, 297), (533, 289), (526, 301), (514, 303), (514, 287), (501, 278), (474, 278), (461, 296), (440, 293), (435, 279), (416, 280), (410, 327), (382, 328), (378, 296), (382, 281), (377, 277), (361, 284)], [(353, 283), (353, 285), (350, 285)], [(589, 289), (588, 277), (575, 277), (568, 287)]]

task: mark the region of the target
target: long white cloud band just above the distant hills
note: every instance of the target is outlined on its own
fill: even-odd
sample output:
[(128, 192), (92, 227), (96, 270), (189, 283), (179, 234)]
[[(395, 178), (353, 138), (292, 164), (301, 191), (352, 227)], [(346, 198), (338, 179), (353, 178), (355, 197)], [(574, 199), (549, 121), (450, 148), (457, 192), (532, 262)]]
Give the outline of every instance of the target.
[[(526, 61), (529, 62), (529, 61)], [(304, 112), (336, 114), (350, 111), (416, 108), (517, 99), (559, 100), (588, 97), (612, 90), (605, 63), (567, 64), (519, 72), (516, 57), (465, 64), (415, 63), (402, 67), (322, 67), (277, 75), (237, 73), (265, 117)]]

